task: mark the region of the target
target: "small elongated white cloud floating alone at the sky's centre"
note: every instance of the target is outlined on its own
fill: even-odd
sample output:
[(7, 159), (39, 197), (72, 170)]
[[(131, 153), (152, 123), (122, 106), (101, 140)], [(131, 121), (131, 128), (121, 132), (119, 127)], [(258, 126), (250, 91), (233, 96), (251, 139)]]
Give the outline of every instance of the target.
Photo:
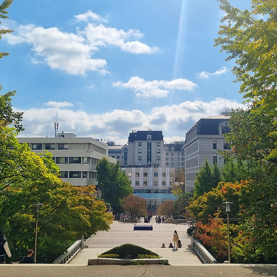
[(137, 92), (136, 95), (138, 97), (166, 97), (169, 93), (169, 90), (188, 90), (191, 91), (195, 87), (196, 84), (193, 82), (179, 78), (172, 81), (145, 81), (138, 76), (132, 77), (127, 83), (122, 83), (121, 81), (117, 81), (113, 83), (113, 87), (124, 87), (133, 89), (134, 92)]

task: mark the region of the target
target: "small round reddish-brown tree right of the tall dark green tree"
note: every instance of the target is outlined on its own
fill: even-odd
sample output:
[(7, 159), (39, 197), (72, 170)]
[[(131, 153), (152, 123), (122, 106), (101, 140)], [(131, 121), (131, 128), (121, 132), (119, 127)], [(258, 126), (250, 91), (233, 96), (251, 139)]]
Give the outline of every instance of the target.
[(139, 219), (147, 215), (146, 201), (140, 196), (128, 195), (123, 197), (122, 207), (132, 219)]

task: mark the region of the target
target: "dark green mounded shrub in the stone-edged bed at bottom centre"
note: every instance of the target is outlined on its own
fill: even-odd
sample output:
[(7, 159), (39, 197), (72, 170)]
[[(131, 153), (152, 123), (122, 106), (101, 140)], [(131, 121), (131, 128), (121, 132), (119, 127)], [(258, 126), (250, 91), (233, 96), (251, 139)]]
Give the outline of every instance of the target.
[[(153, 256), (153, 258), (160, 258), (160, 256), (157, 253), (154, 253), (148, 249), (145, 249), (143, 247), (140, 247), (138, 245), (134, 245), (131, 243), (125, 243), (120, 246), (114, 247), (113, 249), (110, 249), (98, 255), (98, 258), (108, 258), (107, 256), (102, 257), (102, 255), (107, 255), (107, 254), (118, 255), (119, 259), (146, 259), (146, 258), (150, 258), (151, 256)], [(148, 257), (146, 257), (146, 255)]]

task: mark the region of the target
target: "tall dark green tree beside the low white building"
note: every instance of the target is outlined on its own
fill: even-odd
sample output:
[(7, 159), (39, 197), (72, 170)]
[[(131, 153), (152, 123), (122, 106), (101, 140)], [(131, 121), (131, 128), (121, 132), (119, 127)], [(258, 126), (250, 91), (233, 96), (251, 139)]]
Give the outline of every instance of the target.
[(100, 186), (102, 198), (105, 202), (110, 203), (113, 215), (116, 217), (123, 209), (121, 200), (123, 197), (133, 194), (131, 181), (125, 172), (120, 170), (120, 164), (112, 164), (107, 158), (96, 165), (97, 181)]

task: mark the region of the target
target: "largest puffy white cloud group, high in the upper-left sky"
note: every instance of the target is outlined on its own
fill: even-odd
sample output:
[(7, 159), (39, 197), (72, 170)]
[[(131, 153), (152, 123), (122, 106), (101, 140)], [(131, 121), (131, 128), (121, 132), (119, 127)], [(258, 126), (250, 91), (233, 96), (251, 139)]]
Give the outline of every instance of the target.
[[(75, 18), (77, 21), (92, 19), (106, 22), (91, 10)], [(133, 54), (150, 54), (158, 49), (139, 42), (143, 36), (139, 30), (124, 31), (103, 24), (88, 23), (83, 31), (77, 28), (76, 33), (62, 32), (57, 27), (46, 29), (34, 25), (20, 25), (15, 29), (16, 32), (6, 35), (5, 39), (11, 45), (30, 44), (35, 53), (31, 62), (45, 62), (52, 69), (75, 75), (85, 75), (87, 71), (109, 74), (104, 69), (107, 65), (105, 59), (92, 58), (100, 47), (116, 46)]]

